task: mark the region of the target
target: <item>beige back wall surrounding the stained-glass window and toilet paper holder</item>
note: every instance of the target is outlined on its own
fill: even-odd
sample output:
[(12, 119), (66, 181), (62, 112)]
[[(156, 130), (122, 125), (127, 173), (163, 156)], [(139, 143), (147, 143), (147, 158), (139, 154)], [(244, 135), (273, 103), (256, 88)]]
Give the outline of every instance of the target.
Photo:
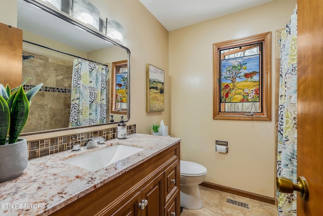
[[(274, 96), (275, 30), (286, 25), (295, 5), (276, 0), (169, 33), (172, 136), (182, 138), (182, 159), (207, 168), (205, 181), (274, 197), (275, 119), (212, 119), (212, 44), (272, 31)], [(228, 154), (215, 151), (216, 140), (229, 142)]]

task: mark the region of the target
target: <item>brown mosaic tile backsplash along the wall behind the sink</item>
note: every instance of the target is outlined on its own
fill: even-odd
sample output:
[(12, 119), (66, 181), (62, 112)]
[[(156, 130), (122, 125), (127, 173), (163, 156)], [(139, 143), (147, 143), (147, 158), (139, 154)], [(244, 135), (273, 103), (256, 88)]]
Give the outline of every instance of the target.
[[(136, 124), (127, 125), (127, 135), (130, 134), (136, 134)], [(43, 140), (28, 141), (28, 160), (71, 150), (73, 145), (76, 144), (81, 144), (81, 146), (84, 146), (87, 139), (94, 137), (103, 137), (105, 140), (116, 139), (117, 127), (62, 137), (53, 137)]]

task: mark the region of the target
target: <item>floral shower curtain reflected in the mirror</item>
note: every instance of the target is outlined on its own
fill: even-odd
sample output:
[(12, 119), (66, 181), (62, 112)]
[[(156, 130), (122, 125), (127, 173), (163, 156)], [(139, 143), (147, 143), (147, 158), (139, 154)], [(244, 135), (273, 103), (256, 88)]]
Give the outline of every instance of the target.
[(109, 68), (74, 59), (69, 126), (106, 122), (106, 81)]

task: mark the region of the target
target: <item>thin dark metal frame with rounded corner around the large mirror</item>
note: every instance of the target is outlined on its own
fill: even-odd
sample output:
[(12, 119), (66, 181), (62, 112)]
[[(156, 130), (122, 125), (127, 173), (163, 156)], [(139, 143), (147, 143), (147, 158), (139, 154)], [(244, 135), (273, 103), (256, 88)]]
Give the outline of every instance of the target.
[[(75, 25), (103, 40), (106, 40), (107, 42), (110, 42), (111, 44), (120, 47), (124, 50), (127, 51), (128, 53), (128, 110), (127, 110), (127, 119), (124, 120), (125, 122), (130, 120), (130, 50), (128, 48), (126, 48), (125, 46), (118, 44), (118, 42), (114, 41), (113, 39), (107, 37), (106, 35), (104, 35), (103, 33), (96, 31), (88, 26), (86, 26), (85, 24), (82, 24), (80, 22), (78, 22), (77, 20), (74, 20), (72, 17), (69, 17), (67, 15), (64, 15), (63, 13), (56, 11), (55, 9), (52, 9), (51, 7), (42, 4), (36, 0), (23, 0), (35, 7), (40, 8), (41, 10), (44, 10), (45, 12), (54, 15), (58, 18), (61, 18), (62, 20), (71, 23), (72, 25)], [(38, 132), (30, 132), (30, 133), (22, 133), (21, 136), (30, 136), (30, 135), (36, 135), (36, 134), (45, 134), (45, 133), (52, 133), (52, 132), (59, 132), (59, 131), (68, 131), (71, 129), (78, 129), (78, 128), (85, 128), (85, 127), (93, 127), (93, 126), (101, 126), (101, 125), (105, 125), (105, 124), (114, 124), (114, 123), (119, 123), (119, 122), (106, 122), (106, 123), (102, 123), (102, 124), (93, 124), (93, 125), (86, 125), (86, 126), (76, 126), (76, 127), (64, 127), (64, 128), (59, 128), (59, 129), (49, 129), (47, 131), (38, 131)]]

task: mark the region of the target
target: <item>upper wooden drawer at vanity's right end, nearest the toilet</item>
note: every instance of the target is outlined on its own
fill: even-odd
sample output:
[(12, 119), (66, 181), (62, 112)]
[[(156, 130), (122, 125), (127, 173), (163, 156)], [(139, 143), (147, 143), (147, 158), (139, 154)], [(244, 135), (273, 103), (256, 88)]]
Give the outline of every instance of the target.
[(164, 172), (165, 175), (165, 203), (178, 191), (179, 188), (179, 166), (175, 160)]

